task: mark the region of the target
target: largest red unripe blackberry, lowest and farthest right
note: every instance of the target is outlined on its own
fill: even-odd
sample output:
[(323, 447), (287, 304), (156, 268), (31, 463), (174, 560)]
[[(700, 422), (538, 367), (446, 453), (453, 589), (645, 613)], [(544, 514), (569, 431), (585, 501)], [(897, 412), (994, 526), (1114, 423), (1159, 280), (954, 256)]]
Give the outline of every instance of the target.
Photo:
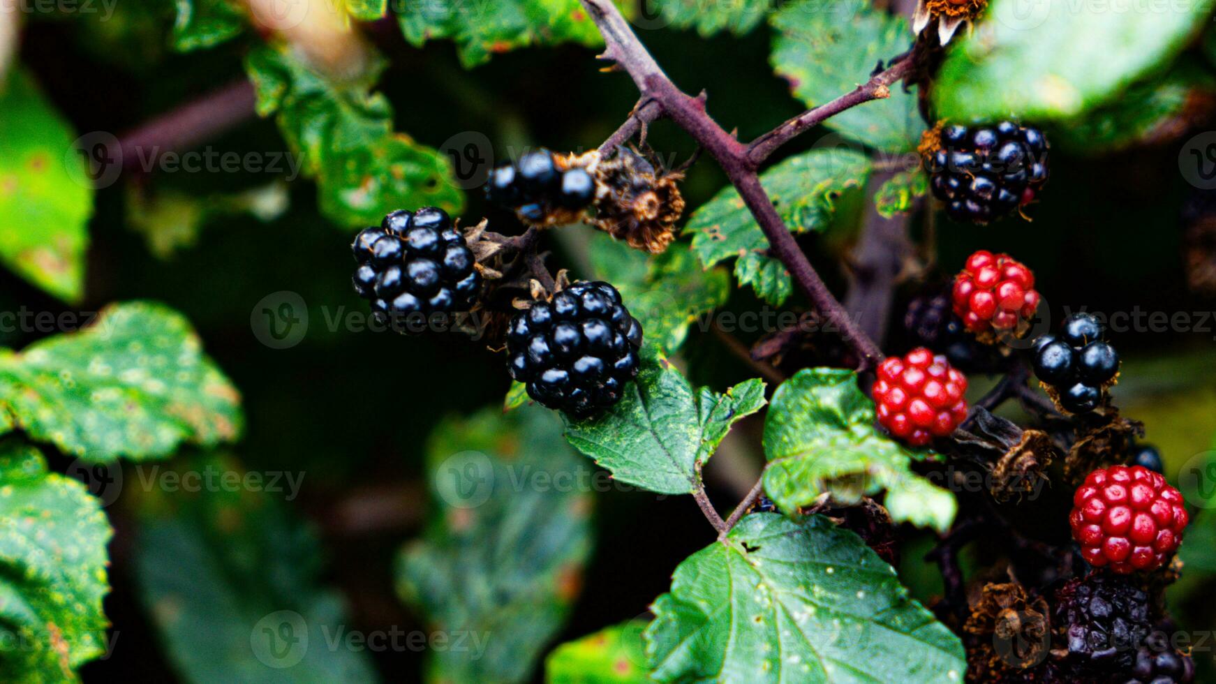
[(1090, 473), (1069, 515), (1081, 556), (1124, 575), (1160, 567), (1178, 549), (1188, 521), (1178, 490), (1141, 465)]

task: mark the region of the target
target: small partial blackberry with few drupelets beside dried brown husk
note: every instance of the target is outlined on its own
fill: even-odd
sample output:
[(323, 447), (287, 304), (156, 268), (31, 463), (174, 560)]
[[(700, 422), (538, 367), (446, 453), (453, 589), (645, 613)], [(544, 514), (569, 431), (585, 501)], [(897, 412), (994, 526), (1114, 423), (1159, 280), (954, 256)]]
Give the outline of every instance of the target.
[(581, 211), (596, 198), (596, 181), (581, 166), (559, 168), (548, 149), (529, 152), (490, 174), (485, 196), (523, 221), (541, 224), (556, 209)]

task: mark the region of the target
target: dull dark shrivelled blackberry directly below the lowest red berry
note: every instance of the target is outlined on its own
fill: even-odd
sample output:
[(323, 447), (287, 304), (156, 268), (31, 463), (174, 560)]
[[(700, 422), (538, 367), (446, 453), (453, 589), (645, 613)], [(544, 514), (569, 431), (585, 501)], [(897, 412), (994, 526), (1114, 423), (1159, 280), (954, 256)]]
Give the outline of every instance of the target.
[(1128, 581), (1100, 572), (1069, 580), (1055, 592), (1055, 624), (1066, 660), (1090, 672), (1126, 672), (1152, 631), (1149, 597)]

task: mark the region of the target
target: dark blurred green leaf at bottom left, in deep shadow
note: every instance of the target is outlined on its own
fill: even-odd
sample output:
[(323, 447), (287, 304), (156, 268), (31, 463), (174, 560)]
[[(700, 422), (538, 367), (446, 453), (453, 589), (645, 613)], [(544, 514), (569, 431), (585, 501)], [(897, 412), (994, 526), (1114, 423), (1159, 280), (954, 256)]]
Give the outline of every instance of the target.
[[(321, 583), (315, 533), (278, 501), (304, 471), (271, 481), (202, 454), (148, 473), (157, 486), (139, 502), (135, 578), (184, 680), (377, 680), (367, 651), (347, 640), (356, 627), (340, 594)], [(250, 486), (252, 475), (268, 477)]]

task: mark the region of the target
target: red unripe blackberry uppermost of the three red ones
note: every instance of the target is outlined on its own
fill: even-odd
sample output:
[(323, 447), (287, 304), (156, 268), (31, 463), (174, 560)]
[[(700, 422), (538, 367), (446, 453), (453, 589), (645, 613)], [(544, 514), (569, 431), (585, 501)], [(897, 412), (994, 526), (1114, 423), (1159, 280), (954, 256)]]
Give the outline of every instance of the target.
[(979, 250), (955, 276), (951, 303), (968, 330), (981, 339), (992, 333), (1025, 334), (1038, 309), (1035, 275), (1008, 254)]

